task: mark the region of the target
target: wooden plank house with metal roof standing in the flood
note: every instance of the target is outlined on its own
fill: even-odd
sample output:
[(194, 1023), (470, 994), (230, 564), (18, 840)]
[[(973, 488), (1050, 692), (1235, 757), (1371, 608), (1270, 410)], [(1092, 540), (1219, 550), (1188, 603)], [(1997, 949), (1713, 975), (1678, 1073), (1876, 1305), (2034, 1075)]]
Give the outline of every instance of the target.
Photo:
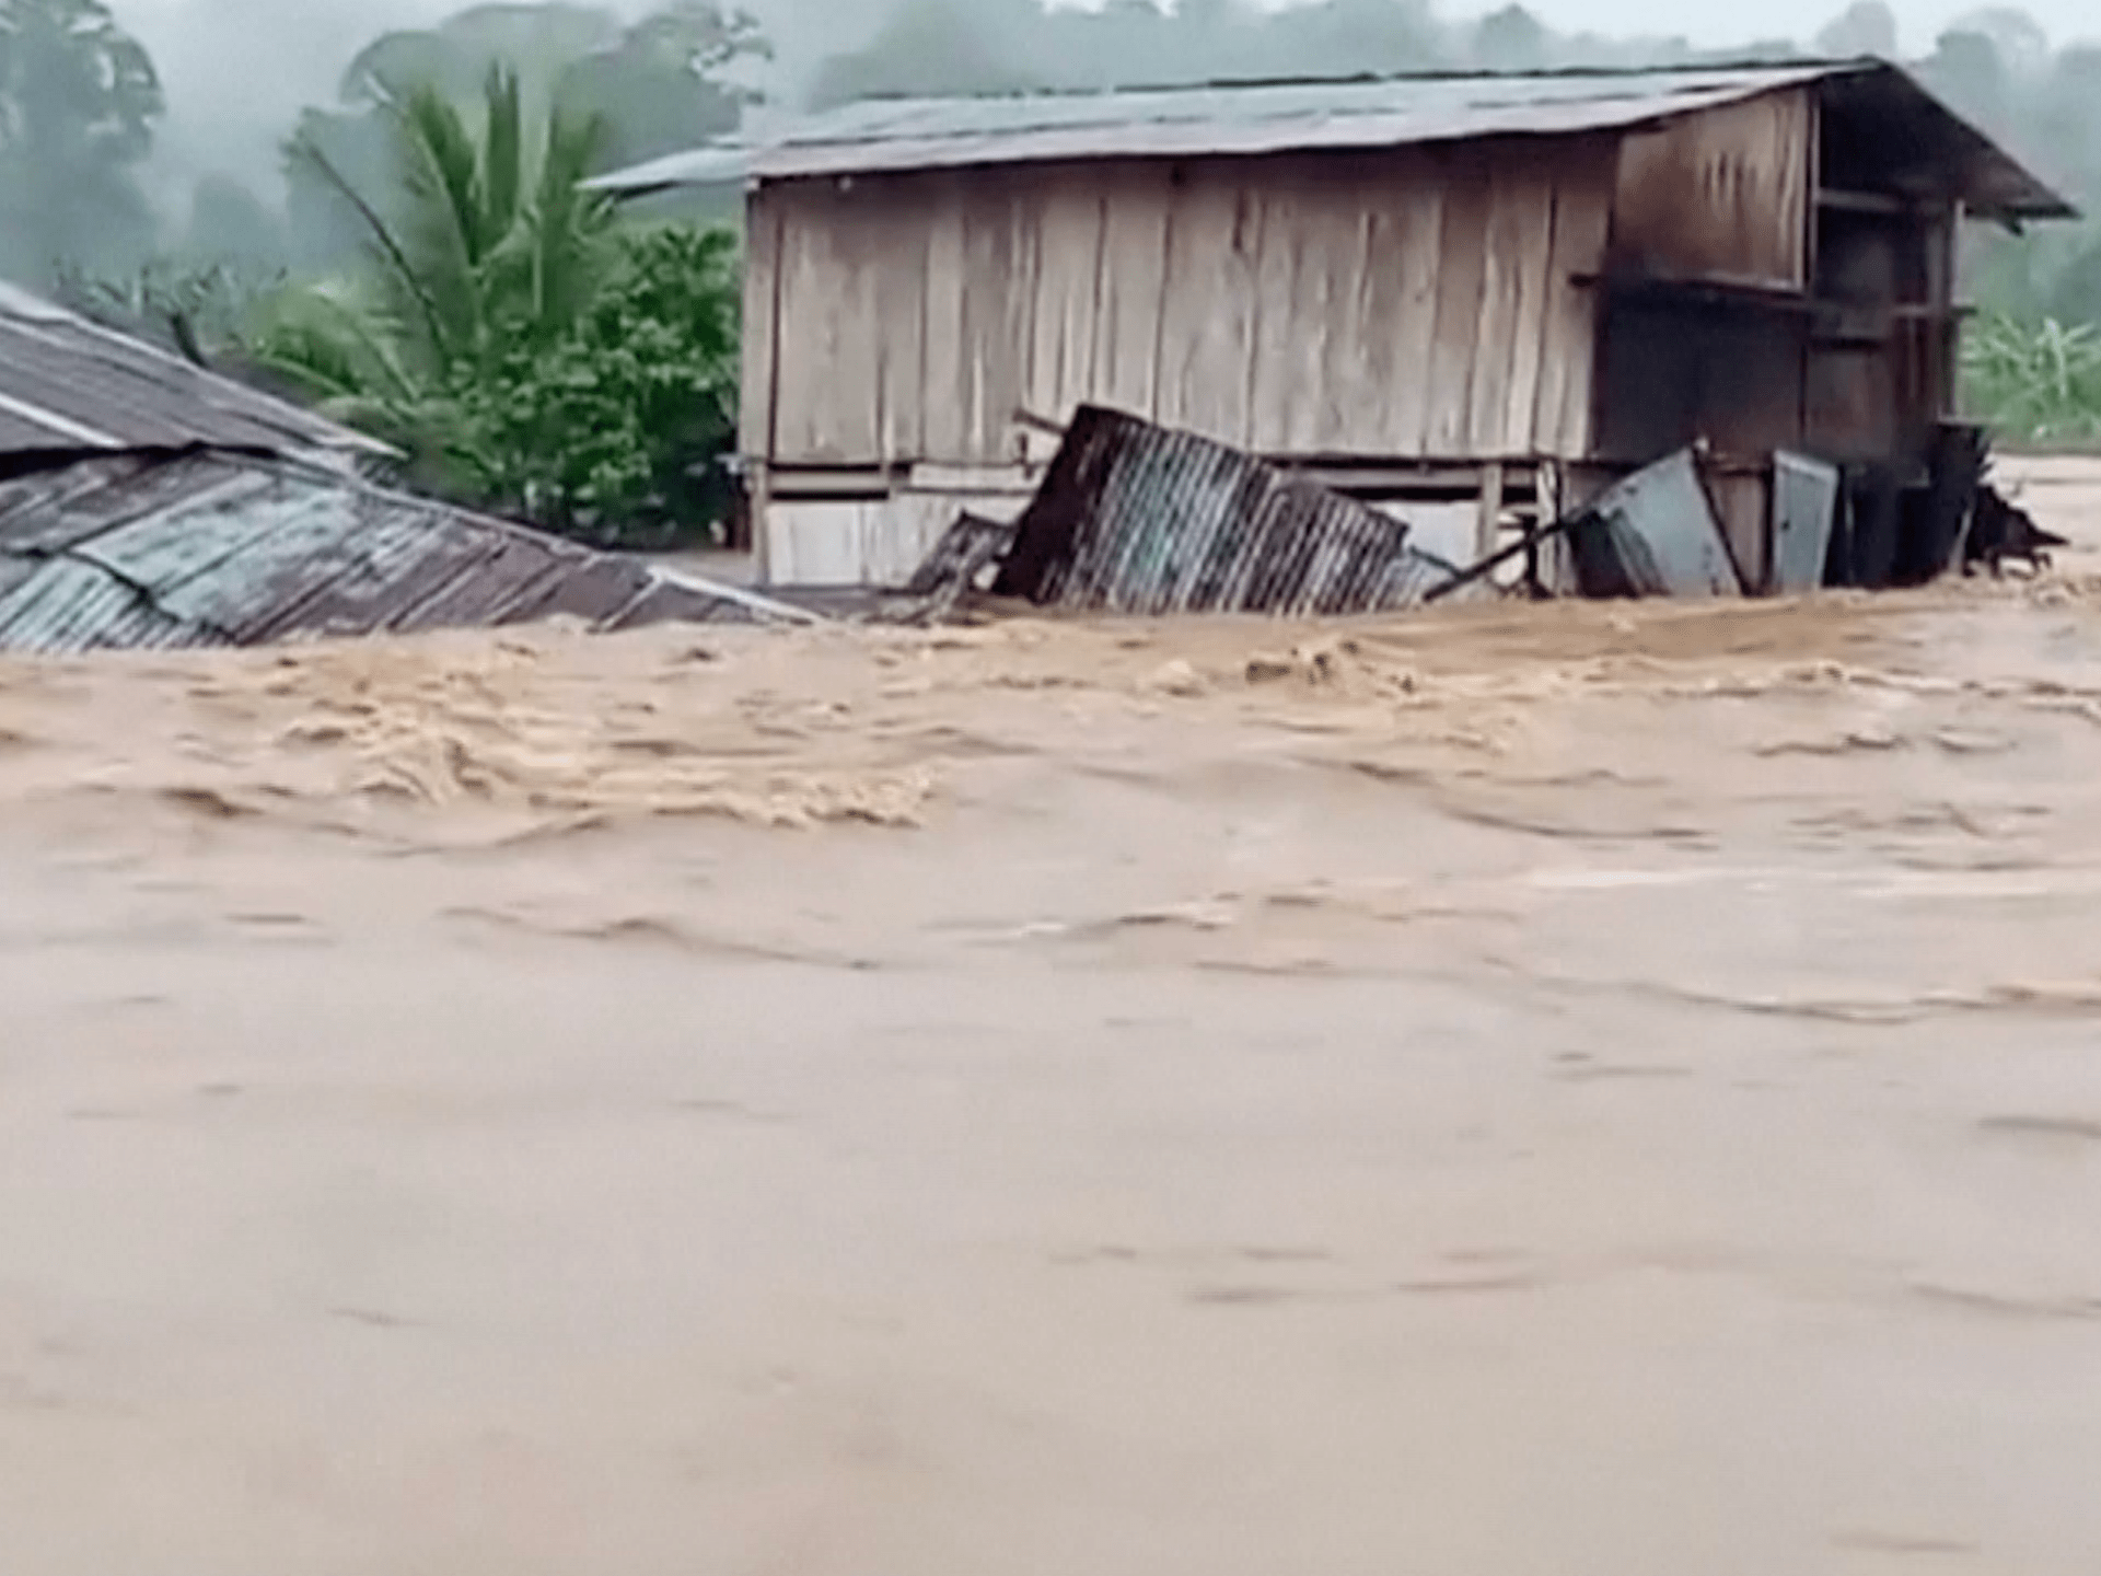
[(1471, 542), (1691, 439), (1746, 578), (1771, 454), (1922, 481), (1956, 235), (2072, 210), (1901, 69), (870, 101), (744, 179), (742, 452), (775, 582), (895, 582), (1080, 403)]

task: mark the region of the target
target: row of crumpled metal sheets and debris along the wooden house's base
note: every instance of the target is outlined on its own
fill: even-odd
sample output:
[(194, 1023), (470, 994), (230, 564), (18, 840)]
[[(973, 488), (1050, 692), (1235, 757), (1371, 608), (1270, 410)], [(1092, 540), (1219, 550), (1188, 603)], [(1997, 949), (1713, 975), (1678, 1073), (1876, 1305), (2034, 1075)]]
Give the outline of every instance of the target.
[[(1391, 511), (1198, 433), (1082, 406), (1019, 519), (960, 513), (880, 616), (935, 622), (977, 590), (1067, 611), (1303, 618), (1509, 590), (1780, 597), (1918, 584), (2006, 557), (2042, 567), (2057, 538), (2006, 504), (1985, 469), (1983, 435), (1948, 427), (1929, 485), (1891, 515), (1887, 488), (1849, 490), (1836, 464), (1777, 452), (1754, 475), (1693, 445), (1536, 517), (1506, 546), (1483, 536), (1460, 565)], [(1746, 475), (1767, 506), (1763, 521), (1735, 521), (1754, 530), (1750, 553), (1721, 509), (1744, 496)]]

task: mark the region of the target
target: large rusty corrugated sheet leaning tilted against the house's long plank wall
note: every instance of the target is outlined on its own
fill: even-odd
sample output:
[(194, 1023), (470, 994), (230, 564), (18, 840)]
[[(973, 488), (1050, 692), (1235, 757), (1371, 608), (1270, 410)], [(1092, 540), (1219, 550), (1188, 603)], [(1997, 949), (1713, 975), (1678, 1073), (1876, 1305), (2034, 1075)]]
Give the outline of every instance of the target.
[(1408, 527), (1193, 433), (1084, 406), (996, 590), (1120, 614), (1355, 614), (1445, 578)]

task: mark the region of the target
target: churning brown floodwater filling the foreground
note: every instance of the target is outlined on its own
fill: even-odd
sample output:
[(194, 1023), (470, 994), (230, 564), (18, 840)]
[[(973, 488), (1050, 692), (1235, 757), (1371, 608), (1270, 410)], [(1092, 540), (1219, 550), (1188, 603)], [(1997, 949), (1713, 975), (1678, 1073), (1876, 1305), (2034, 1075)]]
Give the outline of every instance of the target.
[(2101, 590), (0, 666), (8, 1576), (2101, 1561)]

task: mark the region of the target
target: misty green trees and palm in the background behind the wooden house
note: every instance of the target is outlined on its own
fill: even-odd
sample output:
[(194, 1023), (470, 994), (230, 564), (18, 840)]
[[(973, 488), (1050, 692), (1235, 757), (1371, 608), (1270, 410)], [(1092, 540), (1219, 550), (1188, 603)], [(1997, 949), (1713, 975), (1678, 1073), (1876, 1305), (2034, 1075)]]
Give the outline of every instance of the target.
[[(1557, 34), (1517, 4), (1456, 25), (1424, 0), (897, 0), (830, 55), (807, 21), (716, 0), (632, 23), (588, 4), (462, 11), (357, 53), (334, 101), (284, 128), (282, 181), (208, 174), (168, 204), (149, 191), (168, 105), (120, 15), (0, 0), (0, 273), (324, 401), (395, 439), (422, 485), (561, 530), (668, 536), (725, 496), (710, 460), (731, 439), (735, 193), (635, 216), (582, 179), (731, 132), (763, 97), (1899, 57), (1880, 0), (1807, 46), (1706, 55)], [(779, 29), (800, 29), (794, 65), (773, 61)], [(2101, 204), (2101, 46), (2057, 48), (1988, 8), (1908, 63)], [(2101, 227), (1979, 237), (1971, 290), (1990, 412), (2030, 437), (2101, 437)]]

